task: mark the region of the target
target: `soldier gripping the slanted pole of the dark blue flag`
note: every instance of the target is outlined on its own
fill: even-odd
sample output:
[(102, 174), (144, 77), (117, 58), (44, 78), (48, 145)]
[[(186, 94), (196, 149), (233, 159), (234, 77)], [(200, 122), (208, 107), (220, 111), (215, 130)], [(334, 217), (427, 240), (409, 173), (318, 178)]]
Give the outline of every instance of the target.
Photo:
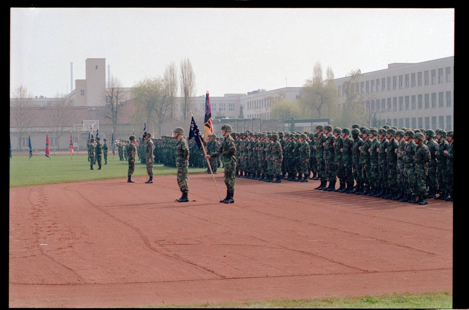
[(205, 156), (205, 158), (216, 157), (223, 153), (223, 160), (225, 164), (225, 185), (227, 185), (227, 197), (220, 202), (223, 203), (234, 203), (234, 173), (236, 171), (236, 146), (234, 140), (230, 136), (231, 125), (225, 124), (221, 126), (221, 133), (225, 137), (223, 142), (220, 144), (218, 150)]

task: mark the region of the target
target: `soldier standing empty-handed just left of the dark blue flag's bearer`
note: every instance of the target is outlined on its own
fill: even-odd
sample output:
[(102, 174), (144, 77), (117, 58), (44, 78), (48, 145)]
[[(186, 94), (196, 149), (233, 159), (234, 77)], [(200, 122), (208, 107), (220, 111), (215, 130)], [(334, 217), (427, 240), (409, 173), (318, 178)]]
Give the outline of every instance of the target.
[[(177, 184), (182, 192), (180, 199), (176, 199), (177, 202), (188, 202), (189, 198), (187, 194), (189, 187), (187, 185), (187, 168), (189, 165), (189, 144), (183, 137), (184, 128), (177, 127), (174, 129), (174, 137), (176, 138), (175, 145), (175, 158), (176, 158), (176, 169), (177, 169)], [(213, 135), (212, 135), (212, 138)]]

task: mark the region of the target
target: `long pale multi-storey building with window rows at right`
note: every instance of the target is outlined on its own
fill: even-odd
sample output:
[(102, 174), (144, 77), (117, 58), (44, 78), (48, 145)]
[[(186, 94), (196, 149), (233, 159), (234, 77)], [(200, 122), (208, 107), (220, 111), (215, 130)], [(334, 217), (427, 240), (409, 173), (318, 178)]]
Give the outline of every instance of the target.
[[(344, 82), (335, 79), (339, 104)], [(387, 69), (363, 73), (354, 85), (370, 113), (397, 128), (454, 128), (454, 56), (419, 63), (393, 63)]]

